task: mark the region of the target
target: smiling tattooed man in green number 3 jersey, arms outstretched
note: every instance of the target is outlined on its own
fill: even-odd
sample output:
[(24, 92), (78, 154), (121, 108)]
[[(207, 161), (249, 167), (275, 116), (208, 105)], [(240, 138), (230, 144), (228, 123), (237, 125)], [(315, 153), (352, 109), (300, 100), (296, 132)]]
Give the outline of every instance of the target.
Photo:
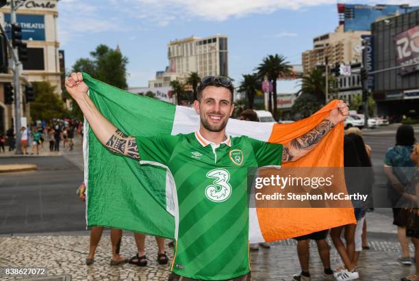
[(66, 89), (103, 146), (167, 171), (177, 241), (169, 280), (250, 280), (246, 168), (301, 159), (348, 116), (341, 101), (313, 129), (285, 144), (232, 137), (226, 126), (234, 109), (233, 83), (204, 77), (194, 101), (199, 131), (134, 137), (97, 109), (81, 73), (66, 79)]

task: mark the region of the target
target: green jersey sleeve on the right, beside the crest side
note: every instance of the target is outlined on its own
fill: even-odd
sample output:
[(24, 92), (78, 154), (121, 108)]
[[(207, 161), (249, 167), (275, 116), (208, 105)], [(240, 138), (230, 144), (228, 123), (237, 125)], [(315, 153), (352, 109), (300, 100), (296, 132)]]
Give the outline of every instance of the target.
[(282, 163), (282, 144), (270, 144), (257, 139), (249, 138), (249, 142), (253, 148), (256, 157), (257, 166), (279, 166)]

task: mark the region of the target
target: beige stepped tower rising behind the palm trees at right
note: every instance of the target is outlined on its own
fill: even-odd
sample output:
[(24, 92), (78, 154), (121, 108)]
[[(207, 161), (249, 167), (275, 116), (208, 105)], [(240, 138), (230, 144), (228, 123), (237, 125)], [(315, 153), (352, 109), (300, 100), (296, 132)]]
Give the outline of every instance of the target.
[(316, 66), (353, 64), (362, 60), (361, 36), (369, 35), (370, 31), (344, 31), (339, 25), (335, 32), (323, 34), (313, 39), (313, 49), (302, 54), (303, 72), (307, 75)]

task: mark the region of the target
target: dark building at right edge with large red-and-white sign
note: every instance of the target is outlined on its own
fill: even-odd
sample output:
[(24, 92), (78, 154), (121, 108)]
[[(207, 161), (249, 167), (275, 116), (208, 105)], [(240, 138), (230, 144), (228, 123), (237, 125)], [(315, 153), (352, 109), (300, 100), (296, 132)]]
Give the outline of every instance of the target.
[[(377, 114), (419, 119), (419, 10), (372, 23), (366, 66)], [(372, 71), (371, 71), (372, 70)]]

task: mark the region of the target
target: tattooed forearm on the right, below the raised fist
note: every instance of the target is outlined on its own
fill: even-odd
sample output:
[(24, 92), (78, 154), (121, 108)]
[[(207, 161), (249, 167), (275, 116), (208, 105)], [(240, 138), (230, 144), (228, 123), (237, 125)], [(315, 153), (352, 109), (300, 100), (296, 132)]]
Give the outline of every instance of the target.
[(296, 161), (307, 155), (317, 144), (333, 129), (335, 123), (325, 119), (317, 126), (296, 139), (292, 139), (288, 144), (284, 144), (282, 152), (282, 163)]

